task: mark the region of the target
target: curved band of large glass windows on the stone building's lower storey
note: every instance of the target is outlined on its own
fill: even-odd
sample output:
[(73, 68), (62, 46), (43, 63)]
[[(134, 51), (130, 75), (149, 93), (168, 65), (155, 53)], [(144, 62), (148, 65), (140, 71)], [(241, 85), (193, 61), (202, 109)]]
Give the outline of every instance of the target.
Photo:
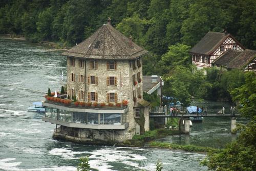
[(123, 125), (126, 121), (126, 113), (70, 112), (51, 107), (46, 107), (45, 117), (88, 125)]

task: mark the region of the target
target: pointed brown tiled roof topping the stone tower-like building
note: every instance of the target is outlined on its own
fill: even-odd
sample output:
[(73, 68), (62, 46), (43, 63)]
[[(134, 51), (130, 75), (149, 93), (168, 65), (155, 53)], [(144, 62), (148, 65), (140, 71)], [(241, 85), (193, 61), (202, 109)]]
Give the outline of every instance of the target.
[(61, 55), (87, 59), (136, 59), (146, 53), (108, 23)]

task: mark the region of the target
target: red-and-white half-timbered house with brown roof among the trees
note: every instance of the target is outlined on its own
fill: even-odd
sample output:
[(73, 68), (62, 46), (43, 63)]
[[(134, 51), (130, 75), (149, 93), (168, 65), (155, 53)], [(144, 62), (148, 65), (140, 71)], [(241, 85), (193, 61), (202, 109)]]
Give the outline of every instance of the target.
[(191, 50), (192, 63), (198, 69), (211, 64), (228, 49), (244, 51), (245, 48), (231, 34), (208, 32)]

